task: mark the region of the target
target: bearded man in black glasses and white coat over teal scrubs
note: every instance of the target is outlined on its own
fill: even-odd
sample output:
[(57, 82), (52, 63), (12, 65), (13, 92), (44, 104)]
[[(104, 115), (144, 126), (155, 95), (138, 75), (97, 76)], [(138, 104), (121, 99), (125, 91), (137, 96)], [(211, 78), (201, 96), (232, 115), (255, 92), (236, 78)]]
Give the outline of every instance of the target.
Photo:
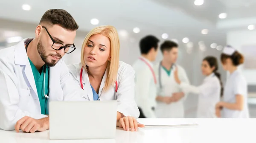
[(35, 38), (0, 50), (1, 129), (47, 130), (49, 101), (86, 100), (61, 59), (76, 49), (78, 28), (67, 11), (51, 9), (36, 27)]

